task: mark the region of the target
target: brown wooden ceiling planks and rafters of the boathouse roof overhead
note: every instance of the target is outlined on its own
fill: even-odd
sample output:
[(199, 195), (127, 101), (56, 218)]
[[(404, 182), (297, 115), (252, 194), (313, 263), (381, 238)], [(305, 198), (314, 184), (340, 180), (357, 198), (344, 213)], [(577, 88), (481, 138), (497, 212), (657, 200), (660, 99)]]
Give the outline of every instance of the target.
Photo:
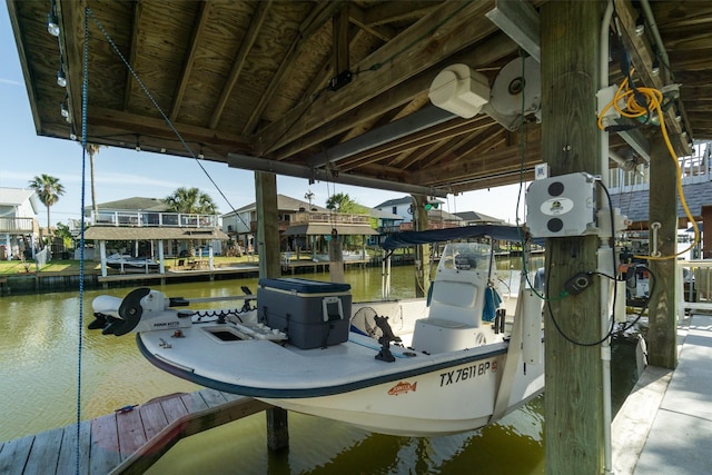
[[(531, 3), (537, 7), (542, 1)], [(8, 6), (38, 133), (66, 138), (71, 125), (59, 116), (66, 92), (56, 85), (59, 48), (44, 24), (49, 1), (9, 0)], [(419, 111), (428, 105), (433, 78), (446, 66), (467, 63), (492, 81), (517, 56), (517, 46), (483, 14), (494, 6), (492, 0), (58, 0), (75, 123), (81, 110), (86, 6), (189, 147), (204, 149), (209, 159), (226, 161), (228, 152), (261, 156), (453, 190), (518, 178), (522, 158), (512, 145), (516, 132), (487, 116), (473, 121), (454, 118), (447, 126), (377, 147), (362, 140), (363, 150), (334, 162), (315, 157)], [(683, 121), (694, 138), (712, 139), (706, 113), (712, 102), (712, 2), (654, 1), (651, 8), (674, 81), (682, 85)], [(650, 69), (650, 41), (631, 32), (639, 12), (629, 0), (616, 0), (616, 10), (626, 44), (636, 65), (643, 65), (639, 69)], [(332, 19), (337, 13), (340, 27), (335, 36)], [(144, 149), (190, 155), (91, 19), (89, 24), (89, 140), (121, 147), (140, 142)], [(334, 67), (335, 37), (343, 44), (339, 61), (355, 76), (340, 89), (327, 90), (339, 69)], [(611, 72), (620, 78), (615, 65)], [(642, 83), (662, 86), (650, 75)], [(656, 130), (646, 127), (639, 132), (650, 136)], [(674, 131), (680, 149), (682, 129)], [(612, 145), (626, 147), (615, 137)], [(530, 156), (538, 149), (530, 142), (525, 176), (541, 160)]]

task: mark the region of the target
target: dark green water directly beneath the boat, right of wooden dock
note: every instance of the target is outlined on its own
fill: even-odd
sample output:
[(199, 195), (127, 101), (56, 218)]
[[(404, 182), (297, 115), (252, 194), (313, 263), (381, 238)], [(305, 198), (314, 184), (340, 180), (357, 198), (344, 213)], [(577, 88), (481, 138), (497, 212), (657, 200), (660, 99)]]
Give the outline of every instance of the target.
[[(148, 474), (543, 474), (543, 399), (481, 431), (441, 437), (372, 434), (289, 414), (289, 448), (270, 454), (261, 415), (179, 442)], [(513, 456), (516, 453), (516, 456)]]

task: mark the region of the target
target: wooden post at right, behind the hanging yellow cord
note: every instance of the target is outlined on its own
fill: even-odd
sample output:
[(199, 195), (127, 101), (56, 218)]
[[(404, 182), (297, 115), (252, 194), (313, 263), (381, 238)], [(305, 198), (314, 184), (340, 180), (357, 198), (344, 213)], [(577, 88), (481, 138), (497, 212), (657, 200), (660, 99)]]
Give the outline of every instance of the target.
[[(650, 226), (660, 224), (657, 243), (650, 232), (650, 249), (654, 244), (662, 256), (678, 251), (678, 182), (675, 160), (659, 135), (651, 141), (650, 154)], [(675, 313), (675, 260), (650, 260), (655, 275), (655, 289), (649, 305), (647, 363), (661, 368), (678, 366), (678, 318)]]

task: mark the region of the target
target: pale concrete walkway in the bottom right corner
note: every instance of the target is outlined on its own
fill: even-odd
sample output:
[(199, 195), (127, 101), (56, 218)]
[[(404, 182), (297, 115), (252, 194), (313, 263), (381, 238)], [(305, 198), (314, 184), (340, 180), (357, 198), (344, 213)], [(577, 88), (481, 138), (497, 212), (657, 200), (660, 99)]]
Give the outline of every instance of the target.
[(649, 366), (613, 422), (616, 475), (710, 473), (712, 316), (679, 333), (675, 370)]

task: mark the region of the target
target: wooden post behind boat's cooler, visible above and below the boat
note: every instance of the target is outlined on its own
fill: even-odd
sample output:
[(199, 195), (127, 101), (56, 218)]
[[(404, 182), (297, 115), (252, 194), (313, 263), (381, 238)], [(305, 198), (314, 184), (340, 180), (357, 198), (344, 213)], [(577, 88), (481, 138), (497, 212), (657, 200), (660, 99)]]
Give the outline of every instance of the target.
[[(257, 204), (257, 251), (259, 277), (281, 276), (279, 265), (279, 219), (277, 216), (277, 177), (275, 174), (255, 171)], [(267, 409), (267, 446), (279, 451), (289, 446), (287, 412), (275, 407)]]

